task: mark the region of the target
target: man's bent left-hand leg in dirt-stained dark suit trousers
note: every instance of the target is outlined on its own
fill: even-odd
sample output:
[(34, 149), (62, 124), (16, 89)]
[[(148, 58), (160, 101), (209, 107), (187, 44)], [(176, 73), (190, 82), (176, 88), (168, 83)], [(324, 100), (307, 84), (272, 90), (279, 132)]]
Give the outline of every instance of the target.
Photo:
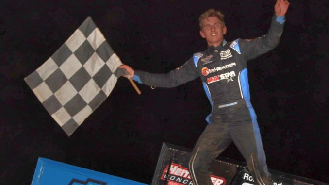
[(189, 163), (194, 185), (213, 185), (208, 168), (230, 142), (227, 126), (219, 123), (211, 123), (207, 126), (197, 140)]

